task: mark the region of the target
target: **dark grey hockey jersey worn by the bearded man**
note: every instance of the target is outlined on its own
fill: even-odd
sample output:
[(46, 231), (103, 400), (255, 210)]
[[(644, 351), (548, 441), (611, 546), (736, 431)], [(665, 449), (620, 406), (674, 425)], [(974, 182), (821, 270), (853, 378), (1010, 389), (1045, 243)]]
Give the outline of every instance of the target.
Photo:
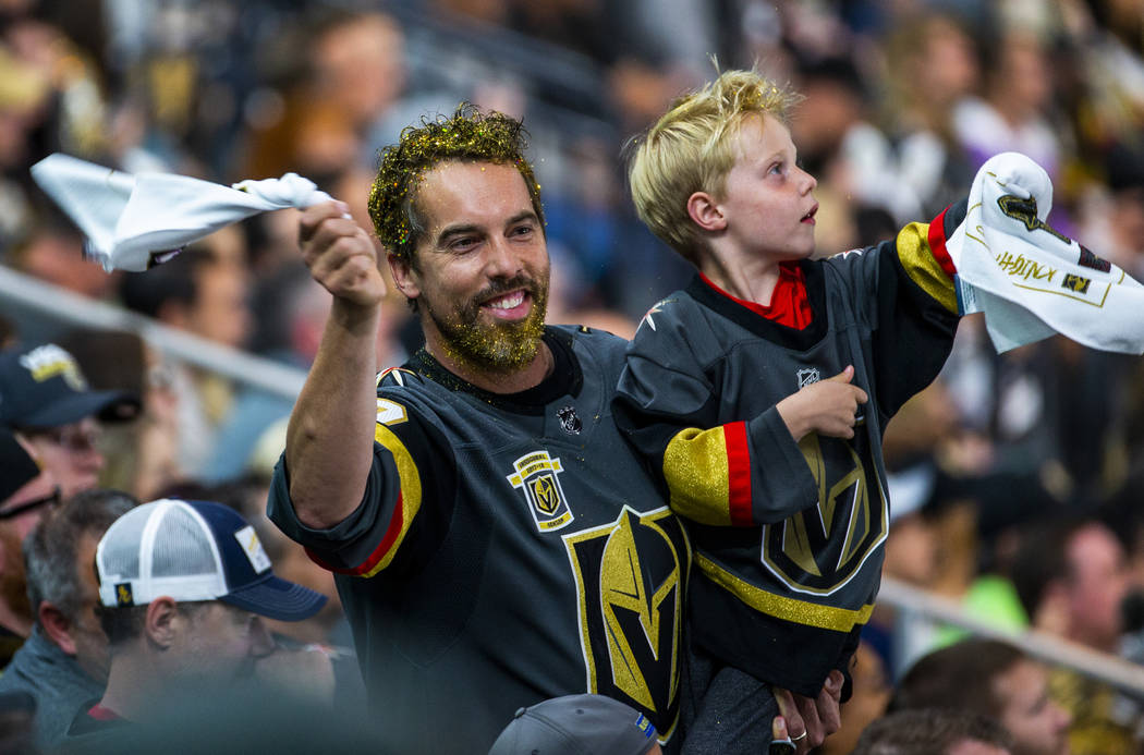
[(395, 753), (483, 753), (521, 706), (575, 692), (681, 739), (691, 553), (612, 420), (626, 341), (545, 341), (554, 374), (510, 396), (424, 351), (382, 373), (364, 500), (331, 530), (297, 520), (276, 470), (270, 516), (335, 572)]

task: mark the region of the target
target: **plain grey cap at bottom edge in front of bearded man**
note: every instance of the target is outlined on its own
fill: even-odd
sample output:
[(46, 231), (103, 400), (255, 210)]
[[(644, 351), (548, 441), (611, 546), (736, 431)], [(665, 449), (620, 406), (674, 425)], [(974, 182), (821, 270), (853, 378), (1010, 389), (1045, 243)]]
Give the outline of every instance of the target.
[(656, 728), (603, 694), (569, 694), (521, 708), (488, 755), (643, 755)]

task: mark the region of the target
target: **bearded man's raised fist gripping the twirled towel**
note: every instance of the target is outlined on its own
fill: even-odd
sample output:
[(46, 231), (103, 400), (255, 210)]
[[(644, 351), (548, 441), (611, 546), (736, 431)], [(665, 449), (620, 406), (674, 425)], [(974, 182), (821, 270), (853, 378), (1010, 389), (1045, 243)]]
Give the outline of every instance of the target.
[(315, 205), (302, 213), (299, 245), (313, 279), (335, 299), (375, 307), (386, 295), (378, 248), (360, 225), (347, 217), (341, 201)]

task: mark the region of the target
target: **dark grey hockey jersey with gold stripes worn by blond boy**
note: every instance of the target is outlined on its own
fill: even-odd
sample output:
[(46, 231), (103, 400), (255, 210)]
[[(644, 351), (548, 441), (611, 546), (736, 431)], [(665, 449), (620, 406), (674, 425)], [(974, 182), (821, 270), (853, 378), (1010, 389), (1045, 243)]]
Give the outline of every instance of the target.
[[(804, 328), (697, 276), (648, 312), (629, 348), (617, 422), (689, 519), (692, 637), (761, 681), (817, 696), (871, 615), (889, 527), (882, 431), (952, 347), (945, 237), (963, 214), (800, 262)], [(855, 437), (795, 443), (776, 404), (851, 364), (869, 396)]]

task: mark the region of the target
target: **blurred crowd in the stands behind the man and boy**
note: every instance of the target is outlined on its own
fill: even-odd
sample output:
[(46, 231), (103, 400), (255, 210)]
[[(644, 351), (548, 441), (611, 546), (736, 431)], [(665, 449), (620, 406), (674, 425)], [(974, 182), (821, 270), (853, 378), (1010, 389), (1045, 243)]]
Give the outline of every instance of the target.
[[(819, 180), (820, 254), (928, 221), (966, 196), (982, 162), (1012, 150), (1051, 176), (1054, 228), (1144, 280), (1144, 3), (1134, 0), (0, 0), (0, 263), (305, 368), (328, 295), (299, 260), (293, 210), (225, 229), (146, 273), (109, 275), (84, 259), (81, 235), (30, 166), (59, 151), (227, 184), (293, 170), (368, 228), (376, 150), (469, 101), (530, 130), (555, 271), (549, 320), (630, 336), (689, 272), (635, 217), (623, 145), (714, 65), (752, 64), (805, 96), (793, 138)], [(400, 299), (379, 334), (379, 367), (419, 347)], [(3, 488), (0, 644), (51, 635), (51, 617), (22, 597), (21, 541), (40, 509), (16, 509), (53, 490), (66, 501), (102, 488), (232, 504), (277, 573), (329, 597), (284, 636), (349, 645), (329, 575), (263, 512), (288, 399), (134, 334), (2, 307), (0, 345), (0, 420), (51, 475), (43, 490)], [(31, 402), (19, 381), (34, 369), (106, 400), (37, 415), (10, 400)], [(890, 424), (885, 460), (887, 575), (999, 629), (1032, 627), (1144, 663), (1138, 358), (1060, 337), (999, 356), (967, 318), (942, 378)], [(82, 619), (67, 611), (64, 623)], [(821, 752), (850, 752), (907, 669), (959, 639), (880, 607), (843, 731)], [(69, 642), (82, 652), (59, 646)], [(1043, 692), (1020, 715), (1056, 734), (1012, 752), (1139, 752), (1144, 702), (1031, 668), (1033, 681), (1010, 685)], [(994, 693), (987, 713), (1009, 725), (1008, 698)]]

